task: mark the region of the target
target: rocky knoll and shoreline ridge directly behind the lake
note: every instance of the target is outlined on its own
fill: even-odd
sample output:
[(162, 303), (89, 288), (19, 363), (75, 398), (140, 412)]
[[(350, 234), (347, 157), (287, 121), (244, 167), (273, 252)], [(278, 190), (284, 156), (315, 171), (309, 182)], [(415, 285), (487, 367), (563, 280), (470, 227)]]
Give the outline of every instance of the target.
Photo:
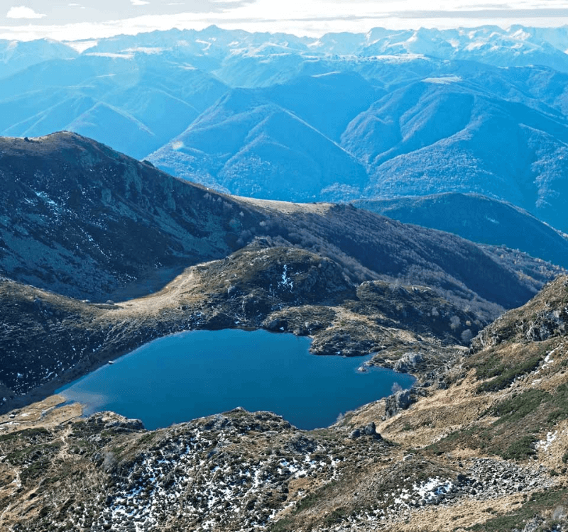
[(420, 364), (398, 366), (420, 372), (484, 325), (431, 289), (380, 281), (357, 287), (332, 260), (266, 244), (190, 267), (160, 292), (122, 303), (85, 303), (4, 279), (0, 380), (6, 401), (0, 408), (45, 395), (154, 338), (190, 329), (312, 336), (312, 353), (380, 352), (383, 365), (388, 353), (394, 363), (420, 339)]

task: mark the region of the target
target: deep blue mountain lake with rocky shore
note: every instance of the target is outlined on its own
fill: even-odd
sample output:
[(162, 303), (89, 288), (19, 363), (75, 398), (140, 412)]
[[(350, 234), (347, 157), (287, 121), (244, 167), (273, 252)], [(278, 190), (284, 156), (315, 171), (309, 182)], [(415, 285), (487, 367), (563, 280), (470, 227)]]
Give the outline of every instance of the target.
[(273, 411), (298, 428), (329, 426), (340, 413), (391, 394), (414, 377), (365, 358), (315, 356), (310, 338), (266, 331), (190, 331), (160, 338), (58, 393), (86, 406), (170, 426), (242, 406)]

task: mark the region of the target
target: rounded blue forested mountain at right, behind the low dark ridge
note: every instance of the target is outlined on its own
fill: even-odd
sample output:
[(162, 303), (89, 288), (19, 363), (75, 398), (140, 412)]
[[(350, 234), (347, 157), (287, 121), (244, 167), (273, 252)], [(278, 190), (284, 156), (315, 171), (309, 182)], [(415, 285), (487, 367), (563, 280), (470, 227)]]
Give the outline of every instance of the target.
[(418, 82), (361, 113), (342, 145), (366, 159), (368, 198), (476, 192), (566, 227), (568, 121), (559, 114), (459, 81)]

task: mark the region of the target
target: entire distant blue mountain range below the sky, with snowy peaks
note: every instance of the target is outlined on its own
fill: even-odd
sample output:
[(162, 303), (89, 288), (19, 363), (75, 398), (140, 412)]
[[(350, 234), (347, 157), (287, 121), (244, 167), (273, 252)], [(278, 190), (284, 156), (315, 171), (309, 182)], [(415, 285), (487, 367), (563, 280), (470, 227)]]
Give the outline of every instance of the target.
[(68, 130), (222, 192), (508, 201), (561, 231), (563, 28), (2, 41), (0, 134)]

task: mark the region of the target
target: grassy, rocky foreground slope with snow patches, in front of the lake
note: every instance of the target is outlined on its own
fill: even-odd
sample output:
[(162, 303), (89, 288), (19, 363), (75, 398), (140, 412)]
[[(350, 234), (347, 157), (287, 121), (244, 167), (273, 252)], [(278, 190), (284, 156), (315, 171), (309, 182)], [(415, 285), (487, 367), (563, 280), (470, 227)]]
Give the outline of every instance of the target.
[[(27, 530), (562, 530), (566, 279), (454, 353), (445, 386), (420, 382), (409, 409), (382, 399), (326, 429), (236, 409), (145, 431), (111, 413), (79, 419), (73, 405), (54, 409), (57, 398), (13, 411), (1, 419), (1, 523), (20, 530), (25, 515)], [(508, 373), (491, 372), (513, 352)]]

